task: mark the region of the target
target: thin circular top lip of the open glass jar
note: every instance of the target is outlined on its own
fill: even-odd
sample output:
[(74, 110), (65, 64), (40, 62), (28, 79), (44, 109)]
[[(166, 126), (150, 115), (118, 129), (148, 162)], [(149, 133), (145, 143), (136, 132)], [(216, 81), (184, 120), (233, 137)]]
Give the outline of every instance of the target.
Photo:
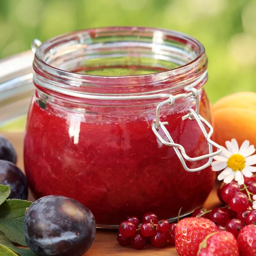
[[(177, 72), (177, 70), (181, 70), (182, 68), (190, 66), (193, 63), (195, 63), (205, 53), (204, 46), (203, 46), (203, 44), (201, 44), (200, 41), (193, 38), (192, 36), (186, 35), (185, 33), (178, 32), (178, 31), (175, 31), (175, 30), (154, 28), (154, 27), (132, 27), (132, 26), (111, 26), (111, 27), (108, 27), (108, 26), (105, 26), (105, 27), (99, 27), (99, 28), (95, 28), (95, 29), (94, 28), (81, 29), (81, 30), (77, 30), (77, 31), (74, 31), (74, 32), (69, 32), (69, 33), (66, 33), (66, 34), (63, 34), (63, 35), (58, 35), (54, 38), (50, 38), (49, 40), (47, 40), (43, 44), (41, 44), (40, 47), (38, 47), (38, 49), (35, 52), (35, 58), (38, 61), (40, 61), (41, 64), (43, 64), (45, 66), (45, 68), (49, 67), (52, 70), (61, 71), (62, 73), (66, 73), (67, 75), (77, 74), (77, 73), (70, 72), (70, 71), (67, 71), (67, 70), (61, 70), (57, 67), (52, 67), (51, 65), (47, 64), (47, 62), (44, 60), (44, 54), (45, 53), (43, 52), (43, 49), (47, 49), (47, 51), (50, 51), (52, 49), (52, 46), (54, 46), (58, 42), (61, 42), (63, 40), (67, 40), (66, 39), (67, 37), (77, 35), (79, 33), (86, 33), (87, 32), (90, 36), (92, 36), (93, 34), (108, 31), (108, 30), (115, 30), (116, 32), (122, 31), (122, 30), (145, 31), (145, 32), (146, 31), (148, 31), (148, 32), (161, 32), (161, 33), (163, 33), (163, 35), (179, 38), (180, 40), (183, 40), (184, 43), (186, 43), (186, 42), (193, 43), (195, 47), (198, 47), (198, 49), (200, 49), (200, 51), (197, 53), (196, 58), (194, 58), (192, 61), (189, 61), (188, 63), (186, 63), (184, 65), (181, 65), (179, 67), (176, 67), (176, 68), (173, 68), (173, 69), (170, 69), (170, 70), (164, 70), (164, 71), (156, 72), (157, 74), (158, 73), (166, 74), (166, 73), (170, 73), (172, 71)], [(108, 79), (116, 79), (116, 78), (127, 79), (128, 77), (131, 78), (131, 77), (152, 76), (152, 74), (156, 74), (156, 73), (149, 73), (149, 74), (142, 74), (142, 75), (131, 75), (131, 76), (100, 76), (100, 75), (88, 75), (88, 74), (80, 74), (80, 73), (78, 75), (83, 77), (83, 78), (98, 77), (98, 78), (103, 78), (103, 79), (106, 79), (106, 78), (108, 78)]]

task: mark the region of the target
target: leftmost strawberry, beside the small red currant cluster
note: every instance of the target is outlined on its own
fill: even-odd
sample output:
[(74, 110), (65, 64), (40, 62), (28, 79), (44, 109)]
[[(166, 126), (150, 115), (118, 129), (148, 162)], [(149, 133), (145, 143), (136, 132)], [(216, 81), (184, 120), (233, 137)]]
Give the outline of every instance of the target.
[(206, 218), (184, 218), (175, 229), (175, 247), (180, 256), (195, 256), (199, 244), (218, 227)]

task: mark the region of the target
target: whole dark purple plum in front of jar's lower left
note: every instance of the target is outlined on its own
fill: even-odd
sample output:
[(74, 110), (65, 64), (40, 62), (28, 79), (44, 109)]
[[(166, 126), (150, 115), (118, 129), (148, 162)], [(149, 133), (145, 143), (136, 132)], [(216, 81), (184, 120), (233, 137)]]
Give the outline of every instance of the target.
[(79, 201), (48, 195), (29, 207), (24, 233), (38, 256), (82, 256), (93, 243), (96, 224), (91, 211)]

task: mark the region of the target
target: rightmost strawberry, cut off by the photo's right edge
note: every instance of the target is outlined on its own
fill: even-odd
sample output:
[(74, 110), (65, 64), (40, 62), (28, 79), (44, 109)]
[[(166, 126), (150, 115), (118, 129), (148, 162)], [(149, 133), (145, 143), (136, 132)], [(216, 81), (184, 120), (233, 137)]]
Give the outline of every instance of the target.
[(240, 256), (256, 255), (256, 226), (250, 224), (243, 227), (237, 238)]

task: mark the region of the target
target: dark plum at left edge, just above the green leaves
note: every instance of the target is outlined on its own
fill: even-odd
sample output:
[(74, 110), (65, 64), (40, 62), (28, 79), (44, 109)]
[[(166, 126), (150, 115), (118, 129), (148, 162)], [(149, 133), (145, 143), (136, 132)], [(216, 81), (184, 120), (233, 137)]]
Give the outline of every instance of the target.
[(10, 185), (10, 199), (28, 198), (28, 183), (23, 172), (9, 161), (0, 160), (0, 184)]

